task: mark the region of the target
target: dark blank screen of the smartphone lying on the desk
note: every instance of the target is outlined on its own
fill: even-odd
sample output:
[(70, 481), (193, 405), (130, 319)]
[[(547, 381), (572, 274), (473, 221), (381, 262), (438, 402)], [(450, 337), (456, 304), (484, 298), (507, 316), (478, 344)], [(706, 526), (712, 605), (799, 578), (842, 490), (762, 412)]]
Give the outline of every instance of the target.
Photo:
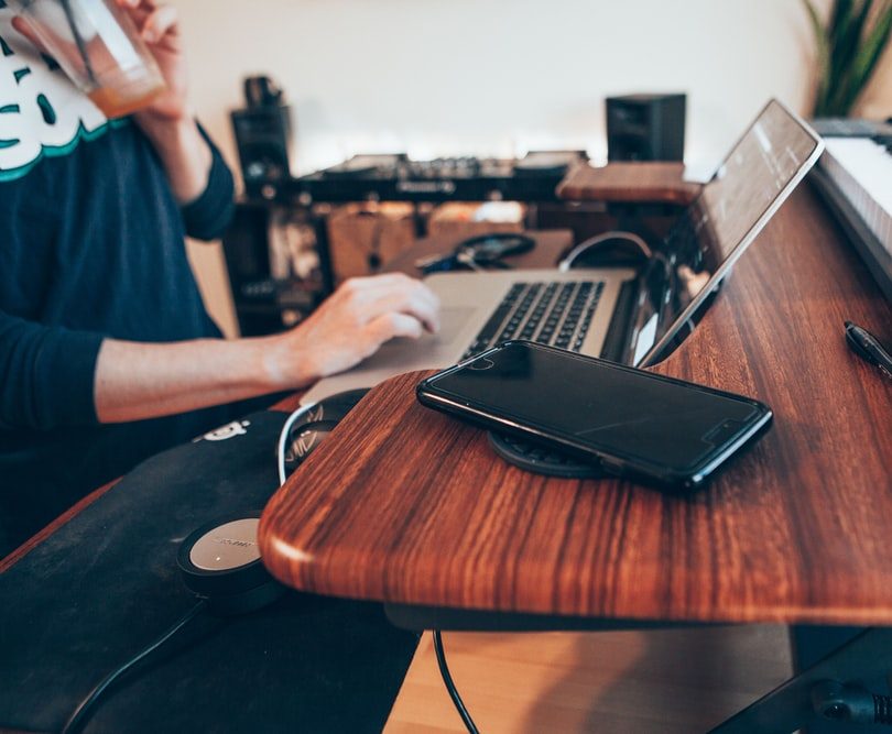
[(546, 436), (679, 472), (764, 413), (747, 398), (525, 343), (489, 352), (431, 384)]

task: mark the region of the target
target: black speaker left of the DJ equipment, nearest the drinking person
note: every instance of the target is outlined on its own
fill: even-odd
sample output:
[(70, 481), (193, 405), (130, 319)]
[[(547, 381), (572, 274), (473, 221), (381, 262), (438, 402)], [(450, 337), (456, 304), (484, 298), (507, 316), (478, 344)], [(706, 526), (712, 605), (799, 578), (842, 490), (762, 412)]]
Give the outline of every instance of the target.
[(291, 107), (266, 77), (247, 78), (244, 96), (248, 106), (231, 112), (244, 191), (272, 199), (291, 175)]

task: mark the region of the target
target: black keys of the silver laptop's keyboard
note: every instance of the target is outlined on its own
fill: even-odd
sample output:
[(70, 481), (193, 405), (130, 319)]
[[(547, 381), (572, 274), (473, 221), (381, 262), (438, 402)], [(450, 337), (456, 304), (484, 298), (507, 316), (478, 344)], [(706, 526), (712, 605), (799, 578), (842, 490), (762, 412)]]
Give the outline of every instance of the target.
[(527, 339), (578, 352), (602, 291), (600, 281), (515, 283), (461, 359), (508, 339)]

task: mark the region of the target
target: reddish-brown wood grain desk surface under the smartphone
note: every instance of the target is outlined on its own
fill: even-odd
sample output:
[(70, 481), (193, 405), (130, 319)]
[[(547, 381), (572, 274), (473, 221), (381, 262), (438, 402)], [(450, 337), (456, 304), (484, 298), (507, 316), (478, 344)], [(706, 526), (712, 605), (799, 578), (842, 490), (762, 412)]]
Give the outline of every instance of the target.
[(803, 185), (655, 371), (752, 395), (772, 430), (708, 489), (545, 479), (370, 393), (263, 514), (283, 582), (401, 604), (699, 622), (892, 623), (892, 382), (844, 319), (892, 309)]

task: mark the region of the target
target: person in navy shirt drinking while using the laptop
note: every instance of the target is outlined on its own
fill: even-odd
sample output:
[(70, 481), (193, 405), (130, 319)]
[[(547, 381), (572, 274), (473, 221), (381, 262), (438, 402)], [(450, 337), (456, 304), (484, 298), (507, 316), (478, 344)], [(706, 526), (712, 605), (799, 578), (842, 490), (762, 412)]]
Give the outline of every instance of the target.
[(140, 460), (243, 415), (240, 401), (438, 328), (436, 296), (387, 274), (347, 282), (290, 331), (221, 338), (184, 234), (219, 237), (232, 177), (189, 108), (176, 11), (116, 2), (167, 83), (123, 120), (0, 0), (0, 557)]

